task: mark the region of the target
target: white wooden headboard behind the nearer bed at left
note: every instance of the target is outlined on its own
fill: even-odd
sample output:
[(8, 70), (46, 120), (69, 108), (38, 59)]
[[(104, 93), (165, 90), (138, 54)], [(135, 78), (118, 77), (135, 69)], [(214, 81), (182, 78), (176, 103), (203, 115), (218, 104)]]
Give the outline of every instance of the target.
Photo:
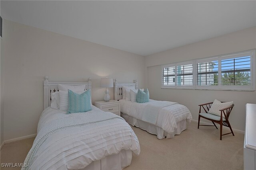
[[(92, 89), (91, 78), (88, 79), (88, 82), (49, 82), (48, 76), (44, 77), (44, 109), (51, 106), (51, 94), (58, 91), (58, 84), (66, 84), (71, 86), (78, 86), (85, 84), (85, 89)], [(92, 93), (92, 90), (91, 90)]]

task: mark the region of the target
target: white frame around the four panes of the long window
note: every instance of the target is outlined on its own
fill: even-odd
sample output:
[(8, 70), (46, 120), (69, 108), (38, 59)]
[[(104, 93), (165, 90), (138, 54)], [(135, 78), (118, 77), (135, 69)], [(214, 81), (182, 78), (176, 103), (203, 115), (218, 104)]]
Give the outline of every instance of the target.
[[(175, 67), (175, 70), (177, 70), (177, 66), (180, 65), (187, 65), (192, 64), (193, 65), (193, 85), (184, 85), (184, 86), (178, 86), (177, 81), (175, 81), (175, 85), (163, 85), (161, 80), (161, 88), (172, 88), (172, 89), (198, 89), (198, 90), (238, 90), (238, 91), (254, 91), (255, 90), (255, 81), (256, 81), (256, 59), (255, 59), (255, 52), (256, 50), (248, 50), (248, 51), (242, 51), (237, 53), (230, 53), (226, 55), (218, 55), (214, 57), (207, 57), (202, 59), (196, 59), (196, 60), (190, 60), (185, 62), (179, 62), (179, 63), (172, 63), (172, 64), (164, 64), (161, 65), (161, 78), (162, 76), (162, 70), (165, 67)], [(250, 55), (250, 79), (251, 79), (251, 85), (250, 86), (238, 86), (238, 85), (222, 85), (221, 82), (221, 61), (224, 59), (232, 59), (232, 58), (238, 58), (238, 57), (244, 57), (246, 55)], [(197, 77), (197, 64), (198, 63), (204, 63), (209, 61), (218, 61), (218, 85), (213, 86), (207, 86), (207, 85), (198, 85), (198, 77)], [(175, 80), (177, 78), (177, 71), (175, 71)]]

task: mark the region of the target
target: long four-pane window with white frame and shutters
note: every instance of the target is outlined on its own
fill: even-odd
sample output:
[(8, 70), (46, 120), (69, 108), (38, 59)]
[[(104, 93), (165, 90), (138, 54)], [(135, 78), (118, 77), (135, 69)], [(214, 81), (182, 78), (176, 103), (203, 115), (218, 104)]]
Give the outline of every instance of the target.
[(161, 87), (255, 90), (255, 66), (255, 50), (166, 64)]

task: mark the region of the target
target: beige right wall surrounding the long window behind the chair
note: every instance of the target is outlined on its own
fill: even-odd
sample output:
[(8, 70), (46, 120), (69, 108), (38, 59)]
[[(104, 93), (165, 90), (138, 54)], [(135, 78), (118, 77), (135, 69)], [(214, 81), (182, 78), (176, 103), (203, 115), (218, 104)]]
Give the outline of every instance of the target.
[[(161, 89), (160, 64), (200, 59), (250, 49), (256, 49), (256, 27), (149, 55), (145, 58), (145, 62), (146, 86), (150, 91), (150, 98), (183, 104), (190, 109), (195, 120), (198, 120), (198, 104), (213, 102), (214, 99), (227, 102), (234, 101), (235, 106), (230, 116), (230, 123), (232, 128), (244, 131), (245, 105), (246, 103), (256, 103), (255, 91)], [(203, 121), (207, 122), (207, 120)]]

